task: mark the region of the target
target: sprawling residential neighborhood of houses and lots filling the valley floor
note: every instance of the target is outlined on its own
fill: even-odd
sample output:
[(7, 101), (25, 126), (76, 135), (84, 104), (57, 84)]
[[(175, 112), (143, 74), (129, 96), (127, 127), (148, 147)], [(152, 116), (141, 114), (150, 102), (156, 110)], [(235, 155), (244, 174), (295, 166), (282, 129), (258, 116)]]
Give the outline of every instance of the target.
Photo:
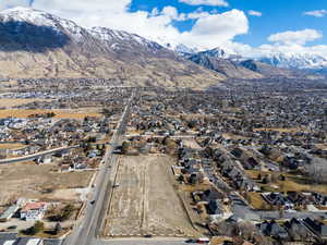
[[(64, 81), (46, 81), (56, 94), (24, 79), (0, 96), (34, 100), (0, 113), (0, 176), (24, 189), (1, 194), (3, 234), (69, 244), (77, 223), (99, 210), (95, 233), (106, 240), (326, 243), (327, 98), (319, 89), (81, 87), (97, 82), (70, 81), (65, 90)], [(28, 171), (43, 184), (25, 180)]]

